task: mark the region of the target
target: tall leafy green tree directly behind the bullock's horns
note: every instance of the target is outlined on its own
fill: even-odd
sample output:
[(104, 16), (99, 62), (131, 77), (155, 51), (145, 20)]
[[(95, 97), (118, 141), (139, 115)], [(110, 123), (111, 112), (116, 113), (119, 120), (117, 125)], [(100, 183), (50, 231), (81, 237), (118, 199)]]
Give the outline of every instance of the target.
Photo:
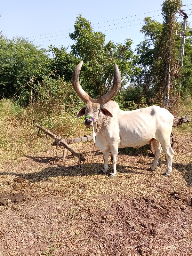
[(113, 83), (114, 64), (120, 69), (122, 86), (127, 84), (133, 73), (139, 68), (134, 67), (137, 56), (131, 50), (132, 41), (126, 39), (124, 44), (105, 44), (105, 34), (94, 32), (91, 23), (81, 14), (77, 17), (74, 32), (69, 36), (75, 41), (71, 45), (71, 53), (84, 61), (81, 85), (92, 97), (106, 93)]

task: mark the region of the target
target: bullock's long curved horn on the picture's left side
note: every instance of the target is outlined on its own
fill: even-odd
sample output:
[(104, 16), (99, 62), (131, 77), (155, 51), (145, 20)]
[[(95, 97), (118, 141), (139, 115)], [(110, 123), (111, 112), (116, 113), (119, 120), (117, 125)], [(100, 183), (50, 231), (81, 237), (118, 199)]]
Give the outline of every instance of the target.
[(73, 71), (72, 84), (78, 96), (83, 100), (83, 102), (87, 103), (92, 98), (82, 89), (81, 85), (79, 84), (79, 73), (82, 65), (83, 61), (81, 61)]

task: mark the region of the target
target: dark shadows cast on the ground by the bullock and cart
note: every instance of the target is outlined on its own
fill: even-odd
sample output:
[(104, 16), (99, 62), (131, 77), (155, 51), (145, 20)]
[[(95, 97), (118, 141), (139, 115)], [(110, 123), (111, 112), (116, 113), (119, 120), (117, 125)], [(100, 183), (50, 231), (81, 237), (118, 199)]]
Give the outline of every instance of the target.
[[(100, 151), (98, 151), (100, 154)], [(49, 180), (50, 177), (57, 177), (57, 176), (89, 176), (89, 175), (101, 175), (100, 170), (103, 168), (102, 163), (92, 163), (92, 167), (90, 168), (90, 164), (84, 164), (83, 169), (81, 169), (79, 166), (69, 166), (65, 167), (62, 164), (57, 164), (58, 162), (55, 162), (54, 165), (52, 165), (52, 157), (40, 157), (40, 156), (27, 156), (28, 159), (32, 160), (34, 163), (38, 164), (50, 164), (49, 167), (44, 168), (40, 172), (30, 172), (30, 173), (16, 173), (16, 172), (0, 172), (0, 175), (13, 175), (25, 178), (31, 182), (39, 182), (43, 180)], [(73, 157), (73, 156), (69, 156)], [(166, 164), (162, 162), (163, 164)], [(129, 165), (119, 165), (117, 164), (117, 172), (118, 173), (135, 173), (138, 175), (150, 175), (151, 172), (148, 172), (148, 167), (146, 166), (146, 169), (142, 169), (140, 167), (135, 166), (129, 166)], [(192, 186), (192, 164), (178, 164), (173, 163), (172, 166), (177, 169), (179, 172), (185, 172), (183, 175), (183, 178), (186, 180), (187, 184), (189, 186)], [(27, 167), (27, 166), (26, 166)], [(70, 168), (70, 169), (69, 169)], [(108, 164), (108, 172), (107, 175), (112, 171), (112, 164)], [(171, 177), (170, 177), (171, 179)]]

